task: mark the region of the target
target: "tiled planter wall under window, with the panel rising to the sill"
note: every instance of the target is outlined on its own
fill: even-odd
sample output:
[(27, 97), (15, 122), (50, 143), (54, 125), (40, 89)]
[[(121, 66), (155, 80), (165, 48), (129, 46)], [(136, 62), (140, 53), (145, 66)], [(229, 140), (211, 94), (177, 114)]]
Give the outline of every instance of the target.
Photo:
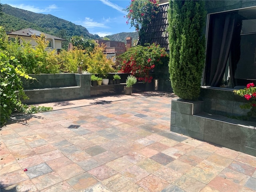
[(172, 100), (170, 130), (256, 156), (256, 119), (227, 117), (246, 114), (244, 102), (232, 90), (201, 88), (200, 101)]

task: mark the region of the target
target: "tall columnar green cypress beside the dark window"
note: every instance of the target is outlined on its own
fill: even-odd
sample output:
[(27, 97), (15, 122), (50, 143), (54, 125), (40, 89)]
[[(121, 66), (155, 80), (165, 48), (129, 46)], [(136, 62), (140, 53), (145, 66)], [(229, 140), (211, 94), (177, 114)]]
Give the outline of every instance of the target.
[(170, 0), (170, 80), (174, 94), (185, 100), (196, 100), (200, 94), (205, 62), (204, 5), (203, 0)]

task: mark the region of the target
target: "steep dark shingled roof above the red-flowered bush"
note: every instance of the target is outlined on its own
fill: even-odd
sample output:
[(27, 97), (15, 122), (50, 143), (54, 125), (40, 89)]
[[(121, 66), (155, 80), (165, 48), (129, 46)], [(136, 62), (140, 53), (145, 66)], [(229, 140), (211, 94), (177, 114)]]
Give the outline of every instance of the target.
[[(151, 20), (151, 24), (146, 28), (145, 33), (140, 37), (138, 44), (144, 45), (145, 43), (160, 44), (165, 50), (169, 50), (168, 44), (168, 7), (169, 3), (160, 4), (160, 11), (156, 17)], [(143, 30), (143, 29), (142, 29)]]

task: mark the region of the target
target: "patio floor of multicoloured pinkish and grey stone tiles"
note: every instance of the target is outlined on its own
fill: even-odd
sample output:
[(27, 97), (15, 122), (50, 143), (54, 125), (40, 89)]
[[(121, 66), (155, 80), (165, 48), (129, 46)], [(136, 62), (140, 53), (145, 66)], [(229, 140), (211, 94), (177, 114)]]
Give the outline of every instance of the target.
[(1, 191), (256, 191), (255, 157), (170, 132), (174, 97), (48, 103), (13, 117), (0, 131)]

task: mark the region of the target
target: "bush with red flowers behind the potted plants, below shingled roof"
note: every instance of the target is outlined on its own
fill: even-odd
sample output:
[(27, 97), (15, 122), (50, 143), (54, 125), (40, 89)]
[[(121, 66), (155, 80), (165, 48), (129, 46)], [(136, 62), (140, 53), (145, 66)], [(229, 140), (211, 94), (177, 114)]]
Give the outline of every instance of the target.
[(166, 51), (156, 44), (132, 47), (119, 57), (123, 60), (121, 72), (131, 73), (139, 81), (151, 82), (150, 71), (162, 64), (161, 58), (165, 56)]

